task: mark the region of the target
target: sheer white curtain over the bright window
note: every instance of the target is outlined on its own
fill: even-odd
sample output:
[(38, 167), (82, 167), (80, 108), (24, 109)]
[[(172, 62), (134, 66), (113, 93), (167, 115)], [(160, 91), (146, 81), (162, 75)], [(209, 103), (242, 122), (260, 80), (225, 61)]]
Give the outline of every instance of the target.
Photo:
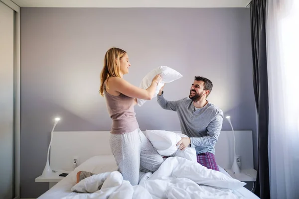
[(267, 0), (271, 199), (299, 199), (299, 0)]

